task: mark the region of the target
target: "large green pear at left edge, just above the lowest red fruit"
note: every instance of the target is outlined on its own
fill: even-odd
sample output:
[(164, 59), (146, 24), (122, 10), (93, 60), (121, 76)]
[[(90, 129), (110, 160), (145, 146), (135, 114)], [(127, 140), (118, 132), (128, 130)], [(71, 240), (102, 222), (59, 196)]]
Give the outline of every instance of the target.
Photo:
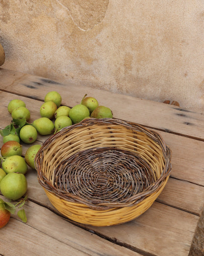
[(0, 182), (2, 195), (11, 200), (18, 200), (27, 191), (27, 180), (23, 173), (8, 173)]

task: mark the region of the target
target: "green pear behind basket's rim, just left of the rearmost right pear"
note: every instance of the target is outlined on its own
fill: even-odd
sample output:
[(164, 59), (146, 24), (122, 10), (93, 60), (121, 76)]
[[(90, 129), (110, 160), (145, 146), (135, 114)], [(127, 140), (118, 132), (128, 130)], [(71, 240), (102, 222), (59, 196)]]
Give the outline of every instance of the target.
[(69, 117), (72, 119), (73, 124), (77, 124), (84, 119), (84, 117), (90, 116), (89, 109), (82, 105), (77, 104), (71, 108)]

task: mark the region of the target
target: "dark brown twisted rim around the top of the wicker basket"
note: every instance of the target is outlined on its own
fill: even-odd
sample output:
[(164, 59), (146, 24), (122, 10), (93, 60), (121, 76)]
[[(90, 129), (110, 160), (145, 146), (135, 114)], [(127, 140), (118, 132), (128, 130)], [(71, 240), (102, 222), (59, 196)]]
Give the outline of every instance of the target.
[[(47, 177), (45, 177), (45, 175), (42, 173), (42, 169), (40, 166), (40, 162), (39, 162), (39, 156), (42, 154), (43, 155), (43, 150), (44, 148), (46, 148), (47, 146), (49, 146), (49, 144), (58, 137), (61, 137), (63, 134), (68, 134), (69, 131), (75, 129), (75, 128), (80, 128), (80, 127), (91, 127), (94, 125), (119, 125), (119, 126), (125, 126), (128, 129), (131, 130), (135, 130), (135, 131), (141, 131), (144, 132), (147, 136), (150, 136), (156, 143), (159, 142), (159, 145), (162, 149), (162, 153), (163, 156), (166, 160), (165, 162), (165, 166), (163, 168), (163, 171), (161, 173), (161, 176), (156, 180), (155, 183), (151, 184), (148, 188), (147, 191), (145, 192), (140, 192), (137, 193), (133, 196), (131, 196), (130, 199), (127, 200), (127, 202), (104, 202), (104, 203), (99, 203), (99, 204), (93, 204), (88, 202), (86, 199), (79, 197), (77, 195), (71, 194), (71, 193), (63, 193), (59, 190), (57, 190), (52, 184), (51, 182), (48, 180)], [(110, 147), (111, 148), (111, 147)], [(169, 148), (169, 146), (164, 142), (163, 138), (160, 136), (160, 134), (158, 132), (149, 130), (148, 128), (145, 128), (144, 126), (140, 125), (140, 124), (136, 124), (136, 123), (132, 123), (129, 121), (123, 121), (120, 119), (110, 119), (110, 118), (105, 118), (105, 119), (85, 119), (83, 121), (81, 121), (78, 124), (72, 125), (70, 127), (66, 127), (66, 128), (62, 128), (59, 132), (51, 135), (47, 140), (45, 140), (42, 144), (42, 147), (40, 148), (40, 150), (38, 151), (38, 153), (36, 154), (35, 157), (35, 165), (36, 165), (36, 170), (37, 170), (37, 178), (38, 181), (40, 183), (40, 185), (46, 189), (47, 191), (57, 195), (59, 198), (62, 198), (64, 200), (69, 201), (70, 197), (72, 198), (72, 200), (74, 202), (77, 203), (82, 203), (85, 204), (93, 209), (108, 209), (108, 208), (113, 208), (113, 207), (125, 207), (125, 206), (132, 206), (135, 203), (140, 203), (144, 198), (150, 196), (151, 194), (157, 192), (162, 186), (163, 186), (163, 181), (165, 179), (168, 179), (168, 177), (170, 176), (171, 173), (171, 158), (172, 158), (172, 151)], [(71, 201), (72, 201), (71, 200)]]

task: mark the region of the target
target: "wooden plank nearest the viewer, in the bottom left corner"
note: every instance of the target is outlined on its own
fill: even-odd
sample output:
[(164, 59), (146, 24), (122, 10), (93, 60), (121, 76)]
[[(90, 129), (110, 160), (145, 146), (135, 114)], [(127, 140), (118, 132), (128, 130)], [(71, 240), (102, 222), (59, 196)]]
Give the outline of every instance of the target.
[(0, 232), (3, 256), (141, 256), (79, 228), (31, 201), (25, 205), (25, 211), (26, 224), (13, 215)]

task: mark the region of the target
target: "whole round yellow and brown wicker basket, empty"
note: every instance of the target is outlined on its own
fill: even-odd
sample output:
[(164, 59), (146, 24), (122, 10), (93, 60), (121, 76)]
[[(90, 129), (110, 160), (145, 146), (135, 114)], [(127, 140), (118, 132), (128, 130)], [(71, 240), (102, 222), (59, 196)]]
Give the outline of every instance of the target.
[(160, 135), (118, 119), (86, 119), (49, 137), (35, 158), (53, 206), (78, 223), (121, 224), (144, 213), (171, 172)]

